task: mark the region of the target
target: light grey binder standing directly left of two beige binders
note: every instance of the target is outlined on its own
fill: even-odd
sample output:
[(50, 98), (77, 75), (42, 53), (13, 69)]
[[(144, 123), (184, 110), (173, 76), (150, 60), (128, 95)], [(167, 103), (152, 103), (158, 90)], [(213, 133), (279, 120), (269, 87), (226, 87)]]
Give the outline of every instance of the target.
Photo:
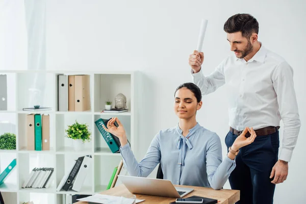
[(58, 110), (67, 111), (67, 75), (58, 75)]

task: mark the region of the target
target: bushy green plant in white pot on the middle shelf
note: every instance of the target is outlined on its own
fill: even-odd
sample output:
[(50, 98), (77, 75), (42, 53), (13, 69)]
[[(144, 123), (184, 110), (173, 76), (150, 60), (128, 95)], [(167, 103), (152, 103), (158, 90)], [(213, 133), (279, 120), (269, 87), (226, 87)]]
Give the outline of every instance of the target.
[(68, 138), (73, 139), (73, 148), (75, 151), (84, 149), (84, 142), (91, 140), (88, 125), (86, 123), (80, 124), (77, 120), (72, 125), (68, 125), (68, 129), (65, 132)]

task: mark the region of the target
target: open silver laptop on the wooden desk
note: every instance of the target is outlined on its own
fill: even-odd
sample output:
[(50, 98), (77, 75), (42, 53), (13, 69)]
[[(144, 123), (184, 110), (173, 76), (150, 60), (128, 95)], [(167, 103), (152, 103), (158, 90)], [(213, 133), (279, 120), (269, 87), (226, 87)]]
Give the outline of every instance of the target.
[(131, 193), (181, 198), (192, 192), (192, 188), (174, 187), (169, 180), (138, 176), (118, 175), (120, 181)]

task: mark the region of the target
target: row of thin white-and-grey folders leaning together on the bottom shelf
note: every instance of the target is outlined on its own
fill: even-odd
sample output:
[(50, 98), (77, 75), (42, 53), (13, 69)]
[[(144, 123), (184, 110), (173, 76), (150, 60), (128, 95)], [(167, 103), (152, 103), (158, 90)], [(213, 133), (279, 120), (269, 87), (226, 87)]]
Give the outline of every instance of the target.
[(22, 188), (49, 188), (54, 168), (34, 168)]

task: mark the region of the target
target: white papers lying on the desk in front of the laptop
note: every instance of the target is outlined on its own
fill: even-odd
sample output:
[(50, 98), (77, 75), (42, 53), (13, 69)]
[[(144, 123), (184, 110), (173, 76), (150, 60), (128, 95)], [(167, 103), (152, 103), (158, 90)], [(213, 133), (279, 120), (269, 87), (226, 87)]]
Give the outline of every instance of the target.
[[(87, 202), (96, 202), (96, 203), (101, 203), (101, 204), (121, 204), (121, 203), (126, 203), (126, 204), (132, 204), (133, 199), (131, 198), (124, 198), (124, 197), (119, 197), (119, 196), (112, 196), (112, 195), (103, 195), (103, 194), (95, 194), (92, 196), (88, 196), (85, 198), (80, 198), (77, 199), (80, 201), (87, 201)], [(142, 202), (144, 200), (139, 200), (136, 199), (136, 203)]]

